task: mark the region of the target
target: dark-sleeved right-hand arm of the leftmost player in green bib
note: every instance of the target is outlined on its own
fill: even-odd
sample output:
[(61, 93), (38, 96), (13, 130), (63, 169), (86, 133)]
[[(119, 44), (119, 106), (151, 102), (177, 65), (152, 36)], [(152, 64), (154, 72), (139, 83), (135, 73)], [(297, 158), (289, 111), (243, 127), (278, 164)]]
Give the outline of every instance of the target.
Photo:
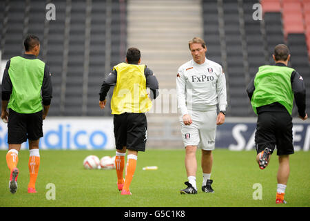
[(43, 114), (42, 117), (45, 119), (45, 117), (48, 115), (48, 110), (50, 109), (50, 103), (52, 102), (52, 79), (51, 79), (51, 73), (50, 73), (50, 67), (45, 64), (44, 68), (44, 77), (42, 82), (42, 104), (43, 104)]

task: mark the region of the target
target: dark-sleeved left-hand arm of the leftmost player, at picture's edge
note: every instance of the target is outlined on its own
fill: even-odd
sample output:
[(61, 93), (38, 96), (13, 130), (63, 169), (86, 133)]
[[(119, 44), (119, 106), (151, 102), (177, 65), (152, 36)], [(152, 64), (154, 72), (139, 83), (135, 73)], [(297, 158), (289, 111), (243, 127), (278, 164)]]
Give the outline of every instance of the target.
[(4, 69), (3, 72), (2, 85), (1, 85), (1, 99), (2, 99), (1, 119), (3, 120), (3, 122), (8, 122), (7, 108), (13, 88), (10, 75), (8, 74), (9, 68), (10, 68), (10, 60), (8, 60), (8, 62), (6, 63), (6, 68)]

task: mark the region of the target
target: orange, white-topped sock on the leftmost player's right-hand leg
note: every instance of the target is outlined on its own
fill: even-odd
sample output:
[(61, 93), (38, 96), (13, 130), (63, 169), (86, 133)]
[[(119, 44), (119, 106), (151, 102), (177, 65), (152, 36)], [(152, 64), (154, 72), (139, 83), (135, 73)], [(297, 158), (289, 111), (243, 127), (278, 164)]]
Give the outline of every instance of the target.
[(32, 149), (30, 150), (28, 168), (30, 173), (30, 181), (28, 184), (28, 188), (36, 188), (36, 181), (39, 172), (40, 166), (40, 153), (39, 149)]

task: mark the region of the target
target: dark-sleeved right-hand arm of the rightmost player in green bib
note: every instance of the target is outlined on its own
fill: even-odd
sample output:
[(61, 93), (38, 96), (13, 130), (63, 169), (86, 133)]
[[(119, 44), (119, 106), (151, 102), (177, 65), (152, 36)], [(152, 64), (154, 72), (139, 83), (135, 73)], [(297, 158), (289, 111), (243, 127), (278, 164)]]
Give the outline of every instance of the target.
[(294, 93), (296, 106), (298, 108), (298, 114), (300, 118), (304, 119), (307, 116), (306, 88), (304, 86), (304, 80), (302, 79), (302, 76), (295, 70), (293, 71), (293, 73), (291, 73), (291, 88)]

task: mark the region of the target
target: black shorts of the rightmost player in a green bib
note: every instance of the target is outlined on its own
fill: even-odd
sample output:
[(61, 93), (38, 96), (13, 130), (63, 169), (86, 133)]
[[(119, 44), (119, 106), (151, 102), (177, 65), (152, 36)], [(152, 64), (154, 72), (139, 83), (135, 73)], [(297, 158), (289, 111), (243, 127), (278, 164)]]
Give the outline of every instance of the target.
[(288, 112), (262, 112), (258, 114), (256, 134), (256, 151), (260, 153), (266, 147), (277, 148), (277, 155), (294, 153), (293, 123)]

